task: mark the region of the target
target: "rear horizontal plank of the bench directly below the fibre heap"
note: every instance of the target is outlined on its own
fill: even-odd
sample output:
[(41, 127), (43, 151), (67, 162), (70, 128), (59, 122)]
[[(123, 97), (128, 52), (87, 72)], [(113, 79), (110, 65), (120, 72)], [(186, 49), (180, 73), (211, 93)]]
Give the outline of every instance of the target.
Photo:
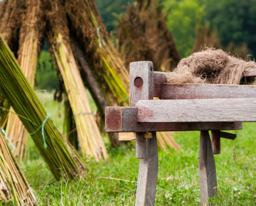
[(161, 99), (228, 99), (256, 97), (256, 86), (253, 85), (164, 83), (161, 91)]

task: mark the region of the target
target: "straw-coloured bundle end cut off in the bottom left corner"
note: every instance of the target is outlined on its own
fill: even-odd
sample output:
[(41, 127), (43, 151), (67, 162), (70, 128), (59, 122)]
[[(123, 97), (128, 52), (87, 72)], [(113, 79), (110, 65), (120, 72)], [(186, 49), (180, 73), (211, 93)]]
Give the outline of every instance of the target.
[(0, 203), (35, 205), (36, 197), (0, 131)]

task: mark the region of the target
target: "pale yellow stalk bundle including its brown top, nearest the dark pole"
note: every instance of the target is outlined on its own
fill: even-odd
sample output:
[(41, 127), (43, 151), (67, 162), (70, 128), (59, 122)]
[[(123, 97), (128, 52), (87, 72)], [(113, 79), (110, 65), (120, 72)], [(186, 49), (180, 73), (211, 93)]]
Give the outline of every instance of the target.
[(89, 105), (76, 59), (67, 41), (69, 29), (65, 21), (65, 8), (60, 1), (50, 2), (50, 5), (52, 29), (49, 38), (76, 122), (81, 151), (84, 156), (95, 157), (97, 161), (108, 159), (108, 152)]

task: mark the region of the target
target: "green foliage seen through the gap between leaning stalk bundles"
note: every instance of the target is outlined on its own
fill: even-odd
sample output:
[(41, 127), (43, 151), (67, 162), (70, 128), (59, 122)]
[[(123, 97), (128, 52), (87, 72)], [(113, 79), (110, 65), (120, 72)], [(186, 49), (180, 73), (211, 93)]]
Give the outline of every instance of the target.
[(54, 90), (58, 79), (56, 65), (48, 50), (42, 50), (36, 73), (36, 90)]

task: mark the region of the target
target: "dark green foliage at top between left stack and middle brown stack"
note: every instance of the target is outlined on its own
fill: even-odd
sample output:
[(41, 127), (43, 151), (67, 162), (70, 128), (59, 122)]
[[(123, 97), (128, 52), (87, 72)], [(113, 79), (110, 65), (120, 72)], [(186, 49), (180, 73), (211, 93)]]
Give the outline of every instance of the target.
[(125, 13), (125, 6), (131, 4), (133, 0), (95, 0), (101, 14), (103, 23), (108, 31), (117, 31), (116, 16)]

